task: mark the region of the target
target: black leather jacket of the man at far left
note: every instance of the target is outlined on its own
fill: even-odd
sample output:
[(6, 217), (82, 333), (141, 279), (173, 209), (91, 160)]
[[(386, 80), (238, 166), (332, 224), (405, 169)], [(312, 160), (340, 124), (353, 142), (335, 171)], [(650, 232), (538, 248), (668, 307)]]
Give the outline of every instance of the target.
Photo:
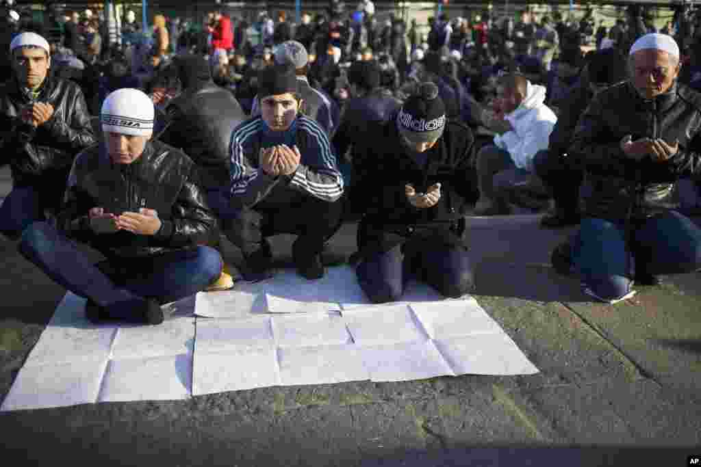
[[(53, 117), (36, 128), (19, 118), (32, 102), (54, 109)], [(15, 185), (38, 184), (42, 176), (67, 173), (75, 155), (96, 141), (86, 99), (75, 83), (47, 76), (36, 101), (15, 78), (0, 86), (0, 157), (10, 164)]]

